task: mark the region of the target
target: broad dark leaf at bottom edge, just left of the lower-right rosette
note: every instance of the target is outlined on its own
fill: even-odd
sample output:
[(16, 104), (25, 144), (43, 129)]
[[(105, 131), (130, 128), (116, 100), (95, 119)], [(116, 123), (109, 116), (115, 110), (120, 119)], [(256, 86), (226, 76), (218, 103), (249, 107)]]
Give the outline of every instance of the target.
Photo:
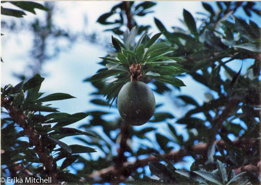
[(159, 162), (149, 162), (148, 164), (151, 173), (159, 177), (161, 180), (165, 182), (175, 181), (175, 177), (172, 176), (171, 172), (164, 164)]

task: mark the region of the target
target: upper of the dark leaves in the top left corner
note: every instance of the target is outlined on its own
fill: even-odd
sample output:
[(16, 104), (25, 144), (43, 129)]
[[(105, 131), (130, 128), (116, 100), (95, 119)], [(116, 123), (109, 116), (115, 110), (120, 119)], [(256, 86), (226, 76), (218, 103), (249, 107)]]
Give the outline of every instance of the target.
[(48, 10), (43, 5), (36, 3), (36, 2), (32, 2), (32, 1), (13, 1), (13, 2), (10, 1), (10, 3), (12, 3), (13, 5), (15, 5), (21, 9), (32, 12), (33, 14), (36, 14), (34, 11), (34, 8), (37, 8), (40, 10), (45, 10), (45, 11)]

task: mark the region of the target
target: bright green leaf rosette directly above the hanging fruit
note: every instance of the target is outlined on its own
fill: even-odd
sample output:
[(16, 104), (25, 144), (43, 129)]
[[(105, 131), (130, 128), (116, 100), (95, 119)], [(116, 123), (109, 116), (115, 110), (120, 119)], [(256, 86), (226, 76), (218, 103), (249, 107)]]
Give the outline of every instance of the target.
[[(123, 43), (112, 36), (111, 45), (116, 52), (110, 53), (107, 57), (100, 57), (104, 60), (101, 64), (106, 68), (100, 69), (97, 74), (85, 80), (109, 83), (103, 89), (103, 94), (107, 96), (107, 102), (111, 102), (110, 105), (116, 99), (122, 86), (132, 78), (138, 78), (146, 83), (153, 79), (177, 87), (185, 86), (182, 80), (174, 77), (186, 72), (181, 65), (176, 63), (185, 60), (179, 57), (169, 57), (173, 48), (166, 43), (155, 43), (162, 33), (157, 33), (150, 38), (145, 32), (135, 43), (137, 32), (137, 26), (133, 27), (130, 32), (126, 30)], [(108, 79), (109, 77), (111, 78)]]

